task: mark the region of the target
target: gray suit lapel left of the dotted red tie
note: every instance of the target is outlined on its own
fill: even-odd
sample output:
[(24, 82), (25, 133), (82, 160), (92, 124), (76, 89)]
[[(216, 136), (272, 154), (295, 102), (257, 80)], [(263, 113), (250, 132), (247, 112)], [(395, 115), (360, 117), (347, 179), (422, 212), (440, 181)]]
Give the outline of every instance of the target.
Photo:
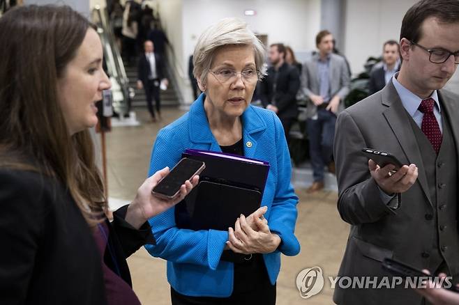
[(424, 194), (426, 194), (426, 198), (428, 198), (430, 205), (432, 205), (421, 151), (419, 150), (416, 136), (414, 136), (414, 132), (412, 131), (412, 126), (409, 124), (409, 114), (407, 114), (405, 107), (403, 107), (396, 88), (391, 82), (382, 90), (382, 104), (389, 107), (383, 112), (383, 116), (391, 126), (409, 162), (418, 166), (419, 184)]

